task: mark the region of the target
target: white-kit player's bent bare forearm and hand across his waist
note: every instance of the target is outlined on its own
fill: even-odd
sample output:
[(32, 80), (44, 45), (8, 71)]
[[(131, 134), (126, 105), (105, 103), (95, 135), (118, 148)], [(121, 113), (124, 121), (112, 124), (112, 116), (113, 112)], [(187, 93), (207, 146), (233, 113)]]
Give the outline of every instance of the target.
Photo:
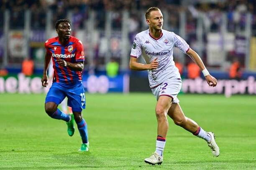
[(141, 64), (138, 62), (137, 58), (135, 57), (130, 58), (131, 70), (137, 70), (137, 71), (154, 70), (154, 69), (157, 69), (157, 67), (158, 67), (157, 57), (150, 64)]

